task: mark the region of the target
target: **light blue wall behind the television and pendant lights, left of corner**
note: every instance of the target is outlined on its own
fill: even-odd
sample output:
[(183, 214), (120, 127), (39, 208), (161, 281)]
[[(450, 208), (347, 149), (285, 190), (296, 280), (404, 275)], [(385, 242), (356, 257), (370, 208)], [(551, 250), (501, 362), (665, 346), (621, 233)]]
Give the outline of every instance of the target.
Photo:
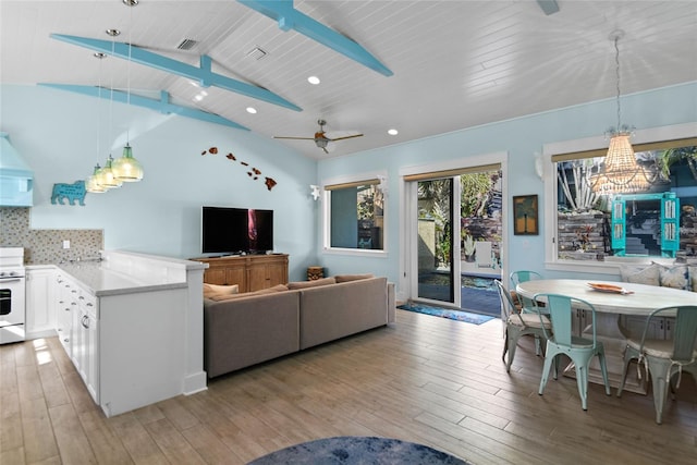
[[(111, 112), (108, 100), (44, 87), (0, 90), (0, 129), (34, 169), (32, 228), (102, 229), (107, 249), (197, 257), (201, 205), (266, 208), (274, 210), (274, 248), (290, 254), (291, 279), (305, 279), (307, 266), (316, 265), (317, 208), (309, 195), (315, 161), (273, 139), (218, 124), (118, 102)], [(97, 162), (103, 166), (112, 146), (120, 157), (126, 130), (145, 179), (87, 194), (84, 207), (51, 205), (54, 183), (85, 179)], [(209, 147), (219, 154), (201, 156)], [(257, 181), (247, 175), (252, 167), (261, 171)], [(265, 176), (278, 183), (271, 191)]]

